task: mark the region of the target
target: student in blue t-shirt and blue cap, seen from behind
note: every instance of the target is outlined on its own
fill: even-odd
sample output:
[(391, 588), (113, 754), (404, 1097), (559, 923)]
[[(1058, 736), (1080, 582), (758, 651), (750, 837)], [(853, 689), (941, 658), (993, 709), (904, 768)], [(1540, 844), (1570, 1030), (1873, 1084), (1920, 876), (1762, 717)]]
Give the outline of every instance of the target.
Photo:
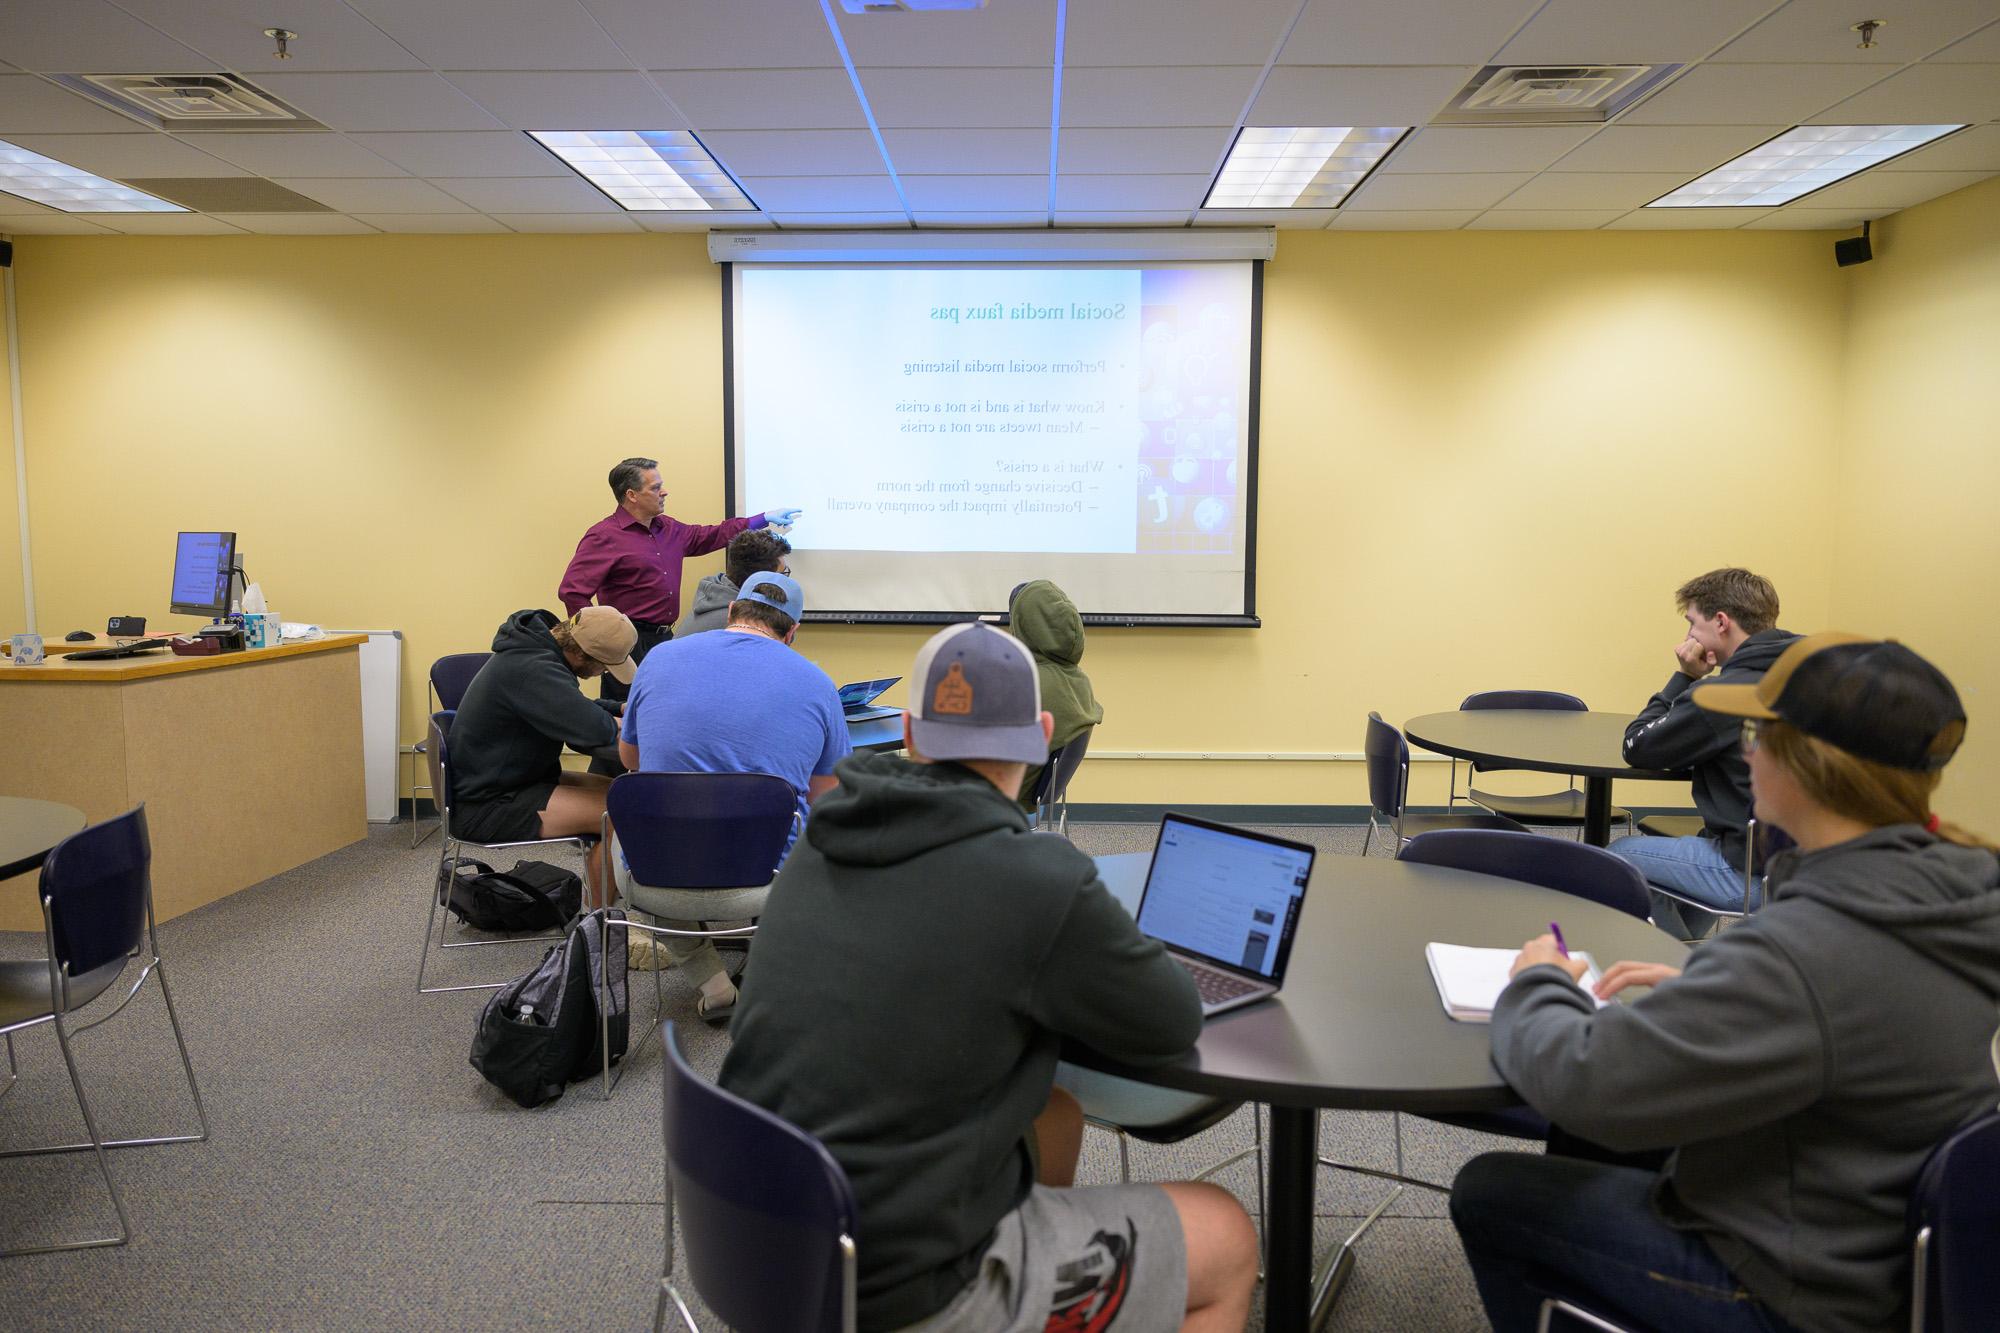
[[(786, 574), (752, 574), (730, 602), (726, 628), (674, 638), (648, 652), (632, 679), (618, 739), (626, 767), (782, 777), (798, 793), (804, 827), (812, 803), (834, 789), (834, 765), (850, 749), (832, 677), (792, 650), (804, 610), (798, 582)], [(630, 897), (632, 873), (624, 857), (614, 857), (612, 865), (620, 893)], [(748, 921), (762, 915), (764, 895), (764, 887), (702, 891), (700, 917)], [(666, 925), (678, 923), (666, 919)], [(736, 983), (714, 945), (632, 931), (632, 967), (654, 965), (654, 943), (700, 987), (702, 1017), (726, 1021), (736, 1007)]]

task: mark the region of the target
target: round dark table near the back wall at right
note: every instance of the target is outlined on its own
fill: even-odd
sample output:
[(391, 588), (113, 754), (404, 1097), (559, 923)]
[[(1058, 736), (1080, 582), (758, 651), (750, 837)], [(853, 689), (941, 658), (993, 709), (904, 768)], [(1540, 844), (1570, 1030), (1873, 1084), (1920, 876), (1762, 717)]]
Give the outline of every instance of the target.
[(1532, 769), (1584, 779), (1584, 841), (1612, 839), (1612, 781), (1686, 781), (1686, 773), (1634, 769), (1624, 761), (1632, 713), (1558, 713), (1554, 709), (1458, 709), (1426, 713), (1402, 725), (1410, 745), (1470, 759), (1492, 769)]

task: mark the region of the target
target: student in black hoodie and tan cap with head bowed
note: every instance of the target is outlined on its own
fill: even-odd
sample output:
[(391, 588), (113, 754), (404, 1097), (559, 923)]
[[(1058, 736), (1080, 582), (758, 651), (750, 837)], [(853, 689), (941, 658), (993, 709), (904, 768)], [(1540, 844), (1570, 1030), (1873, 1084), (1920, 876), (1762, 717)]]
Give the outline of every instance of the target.
[[(520, 843), (598, 833), (606, 779), (562, 769), (562, 747), (604, 751), (618, 741), (618, 703), (586, 699), (578, 681), (632, 679), (638, 630), (622, 610), (584, 606), (568, 620), (516, 610), (494, 632), (494, 654), (472, 677), (452, 721), (452, 835)], [(588, 905), (604, 903), (604, 849), (586, 861)]]

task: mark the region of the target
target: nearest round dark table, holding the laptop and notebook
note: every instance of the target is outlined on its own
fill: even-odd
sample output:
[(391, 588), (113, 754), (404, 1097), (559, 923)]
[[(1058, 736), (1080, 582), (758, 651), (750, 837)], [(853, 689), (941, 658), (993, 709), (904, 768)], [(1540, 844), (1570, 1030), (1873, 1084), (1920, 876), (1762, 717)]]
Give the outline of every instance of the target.
[[(1148, 853), (1098, 857), (1128, 909)], [(1686, 945), (1624, 913), (1490, 875), (1370, 857), (1322, 855), (1306, 889), (1284, 991), (1210, 1019), (1194, 1051), (1128, 1069), (1066, 1059), (1142, 1083), (1270, 1105), (1270, 1233), (1264, 1327), (1304, 1329), (1312, 1309), (1312, 1195), (1320, 1107), (1488, 1111), (1520, 1105), (1492, 1065), (1490, 1029), (1454, 1023), (1438, 1001), (1424, 945), (1516, 949), (1562, 923), (1598, 967), (1620, 959), (1680, 965)]]

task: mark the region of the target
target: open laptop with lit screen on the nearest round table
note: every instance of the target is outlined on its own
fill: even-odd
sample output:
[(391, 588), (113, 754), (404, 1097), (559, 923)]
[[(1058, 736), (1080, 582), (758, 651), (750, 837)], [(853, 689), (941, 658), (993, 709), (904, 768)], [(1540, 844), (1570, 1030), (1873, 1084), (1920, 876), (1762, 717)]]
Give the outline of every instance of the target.
[(1312, 881), (1314, 849), (1166, 815), (1138, 899), (1138, 929), (1202, 993), (1202, 1017), (1276, 995)]

